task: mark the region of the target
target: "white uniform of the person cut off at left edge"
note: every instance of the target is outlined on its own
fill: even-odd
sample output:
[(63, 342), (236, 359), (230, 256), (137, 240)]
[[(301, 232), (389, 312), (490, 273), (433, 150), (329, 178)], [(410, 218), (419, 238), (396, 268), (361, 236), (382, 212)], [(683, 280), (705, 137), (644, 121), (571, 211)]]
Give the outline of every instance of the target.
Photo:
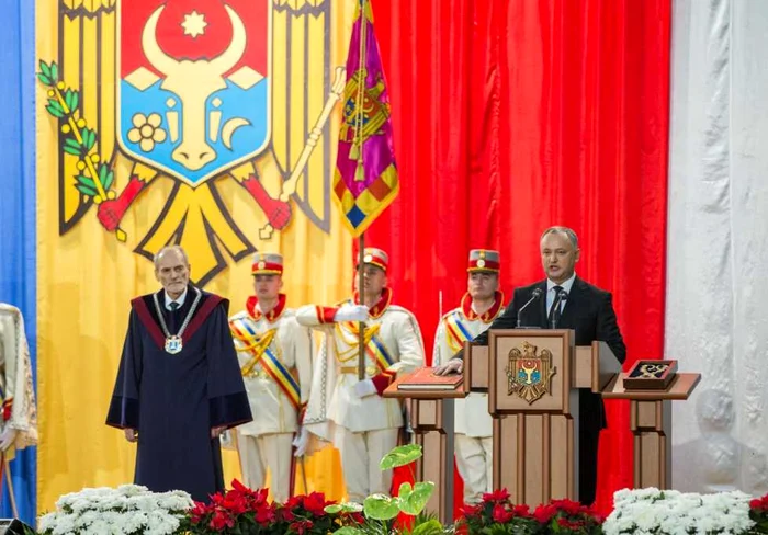
[(21, 310), (3, 303), (0, 303), (0, 431), (15, 433), (3, 452), (4, 459), (10, 460), (15, 449), (37, 444), (37, 409), (24, 319)]

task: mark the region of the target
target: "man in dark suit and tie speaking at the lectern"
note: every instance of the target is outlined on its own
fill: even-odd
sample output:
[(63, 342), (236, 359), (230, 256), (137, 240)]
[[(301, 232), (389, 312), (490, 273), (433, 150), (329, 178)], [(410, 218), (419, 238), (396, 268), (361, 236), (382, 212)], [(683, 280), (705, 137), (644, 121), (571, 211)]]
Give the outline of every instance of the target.
[[(522, 311), (522, 327), (574, 329), (576, 345), (589, 345), (595, 340), (606, 342), (623, 363), (626, 346), (619, 331), (611, 294), (583, 281), (574, 272), (580, 254), (576, 232), (566, 227), (547, 228), (541, 236), (540, 249), (546, 278), (517, 288), (512, 303), (496, 318), (488, 331), (517, 327), (518, 310), (534, 293), (540, 292), (541, 297)], [(553, 306), (555, 303), (556, 307)], [(479, 334), (472, 343), (487, 345), (488, 331)], [(438, 367), (437, 373), (447, 375), (461, 373), (462, 369), (460, 352)], [(579, 391), (579, 500), (590, 504), (595, 501), (598, 439), (600, 430), (606, 428), (606, 411), (600, 395), (587, 389)]]

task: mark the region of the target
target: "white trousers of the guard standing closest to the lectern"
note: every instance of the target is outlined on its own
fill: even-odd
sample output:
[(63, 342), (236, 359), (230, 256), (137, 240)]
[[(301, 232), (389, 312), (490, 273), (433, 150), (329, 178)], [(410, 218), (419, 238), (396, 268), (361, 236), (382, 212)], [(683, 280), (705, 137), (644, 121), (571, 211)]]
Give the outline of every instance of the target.
[(456, 434), (453, 447), (456, 453), (456, 467), (464, 480), (464, 503), (479, 503), (483, 501), (483, 493), (493, 490), (493, 439)]

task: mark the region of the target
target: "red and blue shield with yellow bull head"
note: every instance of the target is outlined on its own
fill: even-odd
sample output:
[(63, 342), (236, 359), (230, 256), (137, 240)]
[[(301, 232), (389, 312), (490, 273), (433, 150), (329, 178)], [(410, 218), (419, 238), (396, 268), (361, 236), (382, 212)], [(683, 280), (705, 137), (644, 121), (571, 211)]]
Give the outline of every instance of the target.
[(118, 10), (125, 152), (195, 187), (268, 146), (269, 0), (132, 0)]

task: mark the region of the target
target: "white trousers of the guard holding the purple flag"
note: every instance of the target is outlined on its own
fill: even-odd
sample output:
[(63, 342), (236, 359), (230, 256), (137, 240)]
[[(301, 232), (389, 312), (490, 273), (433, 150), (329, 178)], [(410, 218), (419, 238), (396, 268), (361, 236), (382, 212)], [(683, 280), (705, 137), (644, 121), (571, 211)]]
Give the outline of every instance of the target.
[(389, 494), (392, 470), (382, 471), (379, 463), (397, 445), (399, 429), (380, 429), (353, 433), (337, 425), (336, 447), (347, 487), (347, 500), (362, 503), (373, 493)]

